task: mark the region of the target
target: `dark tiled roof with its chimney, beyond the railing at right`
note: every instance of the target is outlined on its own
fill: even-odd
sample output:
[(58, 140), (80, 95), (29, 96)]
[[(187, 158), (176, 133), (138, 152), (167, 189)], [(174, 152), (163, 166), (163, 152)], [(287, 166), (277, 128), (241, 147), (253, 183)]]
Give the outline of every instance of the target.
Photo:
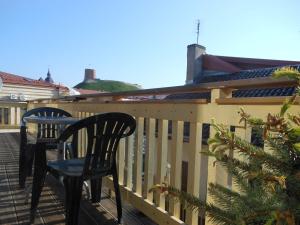
[[(218, 56), (206, 54), (205, 51), (206, 48), (201, 45), (188, 46), (187, 80), (191, 77), (189, 73), (193, 73), (192, 82), (188, 84), (269, 77), (276, 69), (285, 66), (300, 71), (300, 61)], [(237, 90), (232, 92), (232, 97), (291, 96), (295, 89), (295, 87), (279, 87)], [(167, 96), (167, 99), (204, 98), (210, 100), (210, 97), (210, 92), (207, 92), (173, 94)]]

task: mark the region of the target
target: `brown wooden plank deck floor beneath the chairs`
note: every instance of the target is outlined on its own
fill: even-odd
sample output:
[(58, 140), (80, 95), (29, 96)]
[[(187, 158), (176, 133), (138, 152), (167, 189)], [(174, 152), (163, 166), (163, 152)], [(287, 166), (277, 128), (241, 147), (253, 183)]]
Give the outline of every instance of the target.
[[(18, 133), (0, 133), (0, 224), (29, 224), (30, 204), (25, 204), (25, 192), (18, 187)], [(29, 178), (28, 183), (31, 182)], [(63, 187), (47, 176), (34, 224), (64, 224)], [(102, 193), (100, 203), (82, 200), (79, 213), (80, 225), (115, 225), (114, 201)], [(124, 225), (155, 225), (149, 218), (123, 203)]]

